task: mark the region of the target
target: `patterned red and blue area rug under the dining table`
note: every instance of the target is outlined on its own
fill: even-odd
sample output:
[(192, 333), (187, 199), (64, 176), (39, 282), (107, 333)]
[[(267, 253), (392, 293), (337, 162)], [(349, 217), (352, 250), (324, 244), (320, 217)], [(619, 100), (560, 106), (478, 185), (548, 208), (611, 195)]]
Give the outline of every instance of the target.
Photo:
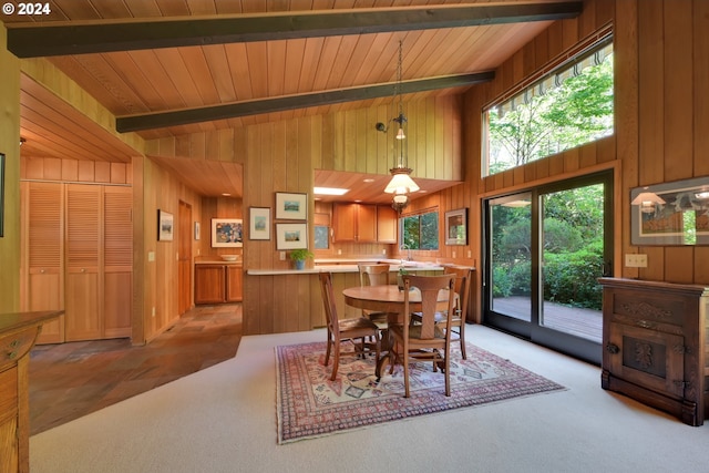
[(451, 358), (451, 397), (432, 363), (410, 364), (411, 398), (403, 398), (403, 368), (389, 368), (377, 382), (373, 357), (340, 357), (330, 381), (325, 342), (276, 347), (278, 443), (323, 436), (450, 409), (538, 394), (565, 388), (511, 361), (467, 345), (467, 360), (455, 343)]

